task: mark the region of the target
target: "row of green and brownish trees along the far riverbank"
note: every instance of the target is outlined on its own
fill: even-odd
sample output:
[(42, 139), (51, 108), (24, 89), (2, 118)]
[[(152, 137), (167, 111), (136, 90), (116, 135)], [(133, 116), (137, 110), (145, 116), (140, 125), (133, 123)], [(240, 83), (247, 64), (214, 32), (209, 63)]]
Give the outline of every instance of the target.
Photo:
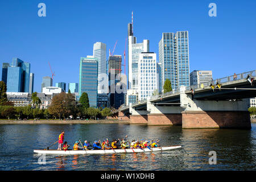
[(79, 101), (69, 93), (60, 93), (52, 98), (48, 109), (39, 109), (42, 102), (32, 93), (32, 105), (17, 107), (7, 100), (5, 82), (0, 81), (0, 118), (4, 119), (104, 119), (113, 116), (108, 107), (96, 109), (90, 107), (87, 93), (82, 93)]

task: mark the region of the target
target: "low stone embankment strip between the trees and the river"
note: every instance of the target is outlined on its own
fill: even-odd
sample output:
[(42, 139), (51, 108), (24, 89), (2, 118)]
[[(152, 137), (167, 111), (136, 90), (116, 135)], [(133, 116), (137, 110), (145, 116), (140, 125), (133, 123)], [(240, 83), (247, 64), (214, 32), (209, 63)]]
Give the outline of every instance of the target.
[(129, 121), (118, 121), (118, 119), (105, 120), (0, 120), (0, 125), (15, 125), (15, 124), (90, 124), (90, 123), (123, 123), (129, 124)]

